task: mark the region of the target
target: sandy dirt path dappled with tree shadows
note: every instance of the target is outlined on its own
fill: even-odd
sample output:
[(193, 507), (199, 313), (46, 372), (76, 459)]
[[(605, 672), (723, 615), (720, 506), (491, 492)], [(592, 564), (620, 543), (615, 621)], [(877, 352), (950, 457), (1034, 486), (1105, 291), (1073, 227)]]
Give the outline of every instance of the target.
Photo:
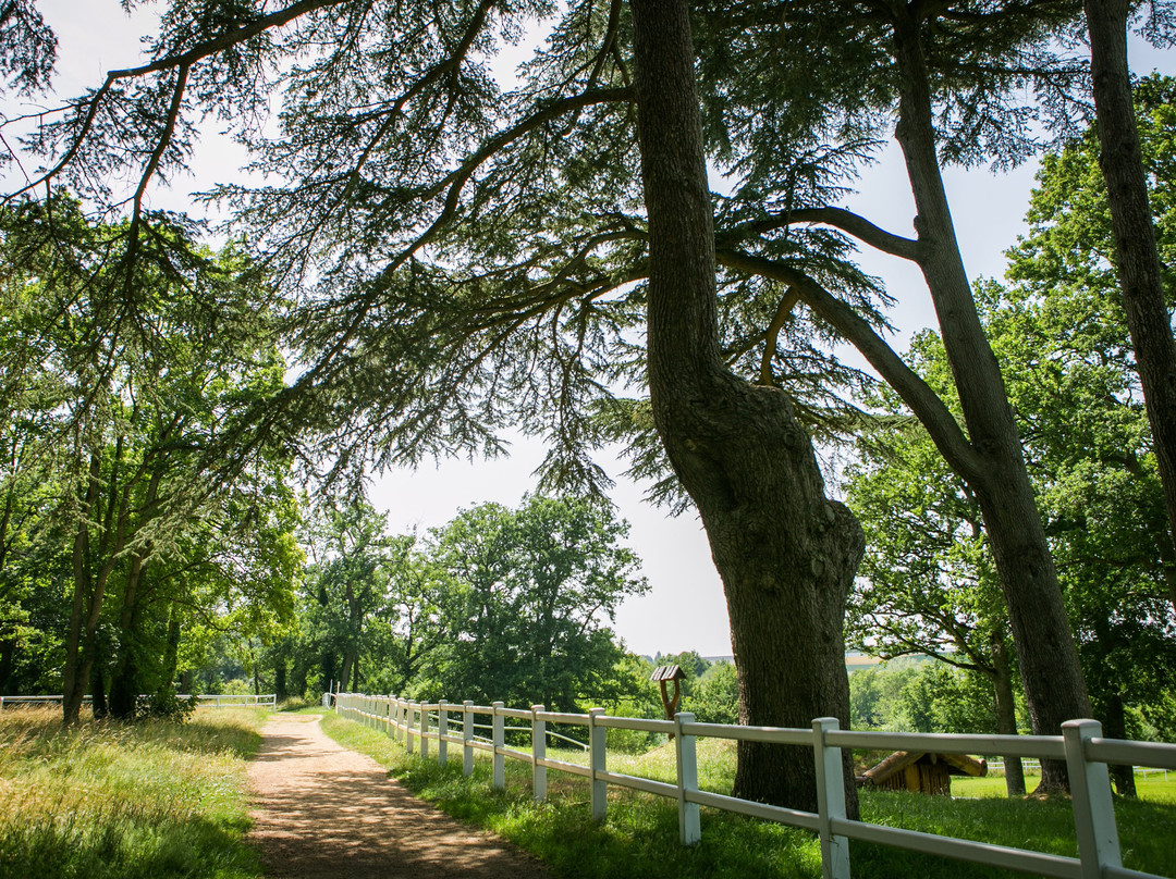
[(249, 766), (250, 839), (266, 875), (289, 879), (540, 879), (539, 861), (414, 798), (373, 759), (335, 744), (319, 717), (274, 717)]

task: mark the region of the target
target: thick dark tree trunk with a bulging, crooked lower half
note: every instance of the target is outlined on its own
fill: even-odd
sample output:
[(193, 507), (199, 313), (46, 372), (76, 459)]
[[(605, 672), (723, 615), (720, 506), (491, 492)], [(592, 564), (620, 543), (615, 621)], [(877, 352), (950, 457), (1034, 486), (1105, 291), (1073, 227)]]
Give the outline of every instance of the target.
[[(849, 724), (842, 623), (861, 528), (824, 496), (813, 444), (777, 389), (719, 353), (714, 234), (684, 0), (633, 0), (636, 102), (649, 215), (654, 420), (699, 508), (723, 581), (743, 724)], [(846, 797), (857, 794), (847, 753)], [(735, 793), (816, 808), (807, 749), (742, 744)]]

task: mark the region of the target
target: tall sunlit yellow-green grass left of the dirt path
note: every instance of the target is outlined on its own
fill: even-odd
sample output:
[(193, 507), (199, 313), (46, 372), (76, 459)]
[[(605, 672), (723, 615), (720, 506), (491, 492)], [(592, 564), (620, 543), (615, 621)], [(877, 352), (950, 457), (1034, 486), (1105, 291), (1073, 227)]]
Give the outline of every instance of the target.
[(263, 719), (221, 709), (64, 730), (60, 710), (0, 713), (0, 877), (261, 875), (245, 833)]

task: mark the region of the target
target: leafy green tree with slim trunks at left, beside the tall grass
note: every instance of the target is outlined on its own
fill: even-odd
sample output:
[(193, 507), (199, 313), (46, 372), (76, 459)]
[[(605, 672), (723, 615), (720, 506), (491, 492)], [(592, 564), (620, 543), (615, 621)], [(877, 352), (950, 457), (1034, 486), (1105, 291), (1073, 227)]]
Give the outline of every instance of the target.
[[(216, 503), (281, 489), (283, 464), (261, 449), (213, 474), (233, 417), (281, 382), (272, 291), (239, 255), (195, 249), (174, 224), (143, 223), (132, 260), (129, 223), (91, 223), (61, 195), (8, 210), (4, 223), (9, 286), (24, 288), (5, 317), (29, 340), (4, 350), (6, 403), (19, 401), (14, 427), (35, 442), (33, 459), (54, 462), (45, 536), (68, 546), (73, 568), (65, 720), (78, 719), (89, 689), (103, 710), (94, 672), (112, 593), (122, 636), (113, 707), (129, 714), (146, 598), (182, 570), (195, 534), (225, 525)], [(175, 566), (156, 570), (160, 559)]]

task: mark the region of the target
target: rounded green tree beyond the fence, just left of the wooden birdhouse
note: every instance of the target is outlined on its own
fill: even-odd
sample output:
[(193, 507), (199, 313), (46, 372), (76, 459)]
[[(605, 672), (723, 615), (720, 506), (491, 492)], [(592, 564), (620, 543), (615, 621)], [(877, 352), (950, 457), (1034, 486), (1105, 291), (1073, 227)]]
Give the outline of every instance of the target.
[[(432, 698), (539, 702), (559, 711), (615, 698), (609, 628), (646, 591), (628, 524), (599, 503), (524, 497), (463, 510), (427, 542), (445, 571), (448, 644), (420, 685)], [(445, 613), (445, 611), (442, 611)]]

